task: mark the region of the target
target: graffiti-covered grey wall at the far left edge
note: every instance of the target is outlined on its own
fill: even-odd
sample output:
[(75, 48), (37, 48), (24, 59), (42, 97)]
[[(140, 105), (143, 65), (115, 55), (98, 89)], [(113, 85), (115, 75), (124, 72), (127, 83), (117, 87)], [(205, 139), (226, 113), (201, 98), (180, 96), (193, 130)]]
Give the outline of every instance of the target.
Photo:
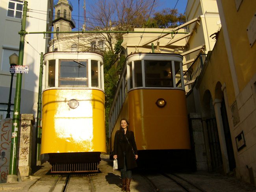
[(0, 122), (0, 183), (5, 183), (9, 171), (12, 119)]

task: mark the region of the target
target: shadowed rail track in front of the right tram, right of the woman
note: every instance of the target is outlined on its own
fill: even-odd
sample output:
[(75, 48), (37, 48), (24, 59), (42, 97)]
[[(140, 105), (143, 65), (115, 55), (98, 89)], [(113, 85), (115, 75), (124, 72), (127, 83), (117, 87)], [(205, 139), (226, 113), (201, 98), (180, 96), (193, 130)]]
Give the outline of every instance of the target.
[(206, 192), (199, 186), (192, 182), (184, 179), (177, 174), (154, 174), (154, 175), (143, 175), (143, 177), (152, 186), (152, 191), (186, 191), (186, 192)]

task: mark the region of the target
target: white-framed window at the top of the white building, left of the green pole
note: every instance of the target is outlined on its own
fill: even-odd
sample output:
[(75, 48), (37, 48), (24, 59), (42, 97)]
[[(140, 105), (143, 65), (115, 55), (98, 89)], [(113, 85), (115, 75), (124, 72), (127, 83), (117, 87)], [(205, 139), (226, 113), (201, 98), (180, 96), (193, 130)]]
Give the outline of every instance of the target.
[(21, 18), (23, 10), (23, 0), (9, 0), (8, 17)]

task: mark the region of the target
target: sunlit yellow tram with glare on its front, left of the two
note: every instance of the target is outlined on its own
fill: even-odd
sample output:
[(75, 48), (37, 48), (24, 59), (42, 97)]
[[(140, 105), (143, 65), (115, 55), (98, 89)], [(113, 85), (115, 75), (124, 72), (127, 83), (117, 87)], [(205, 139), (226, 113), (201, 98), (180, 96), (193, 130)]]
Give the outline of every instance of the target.
[(41, 154), (52, 172), (97, 171), (106, 153), (103, 57), (49, 52), (44, 64)]

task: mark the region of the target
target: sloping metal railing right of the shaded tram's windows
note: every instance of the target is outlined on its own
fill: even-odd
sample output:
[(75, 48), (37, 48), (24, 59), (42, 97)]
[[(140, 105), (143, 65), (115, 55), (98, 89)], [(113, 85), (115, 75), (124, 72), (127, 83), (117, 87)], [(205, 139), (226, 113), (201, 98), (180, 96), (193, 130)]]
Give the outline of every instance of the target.
[(197, 56), (192, 65), (184, 73), (184, 83), (186, 94), (192, 89), (195, 79), (199, 76), (207, 54)]

